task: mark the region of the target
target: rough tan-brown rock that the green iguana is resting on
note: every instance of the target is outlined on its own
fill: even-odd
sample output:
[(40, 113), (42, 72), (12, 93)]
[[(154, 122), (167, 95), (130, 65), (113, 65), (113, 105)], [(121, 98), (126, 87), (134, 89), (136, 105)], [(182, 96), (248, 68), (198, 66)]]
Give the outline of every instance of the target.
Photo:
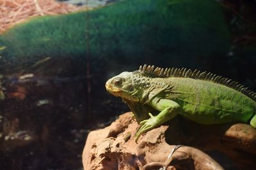
[(178, 117), (143, 134), (137, 144), (138, 127), (131, 113), (125, 113), (109, 127), (90, 132), (84, 169), (223, 169), (204, 153), (209, 150), (220, 150), (239, 167), (255, 168), (256, 131), (250, 125), (206, 126)]

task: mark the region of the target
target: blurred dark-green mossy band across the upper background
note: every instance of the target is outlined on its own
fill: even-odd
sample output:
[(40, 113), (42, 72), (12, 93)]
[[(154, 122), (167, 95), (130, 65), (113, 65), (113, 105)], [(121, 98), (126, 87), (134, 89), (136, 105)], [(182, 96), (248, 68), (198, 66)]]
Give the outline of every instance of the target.
[[(127, 62), (225, 55), (229, 33), (212, 0), (130, 0), (92, 11), (35, 18), (0, 36), (1, 56), (25, 62), (72, 57)], [(19, 60), (22, 61), (22, 60)], [(170, 64), (169, 64), (170, 65)]]

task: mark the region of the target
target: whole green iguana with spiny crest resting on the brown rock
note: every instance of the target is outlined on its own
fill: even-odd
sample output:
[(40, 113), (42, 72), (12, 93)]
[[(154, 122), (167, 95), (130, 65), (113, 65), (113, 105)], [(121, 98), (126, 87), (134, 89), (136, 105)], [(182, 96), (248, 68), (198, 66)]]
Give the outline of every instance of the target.
[[(106, 89), (122, 97), (142, 125), (136, 141), (177, 114), (199, 124), (237, 121), (256, 128), (256, 93), (216, 74), (144, 65), (109, 79)], [(153, 116), (151, 110), (159, 114)]]

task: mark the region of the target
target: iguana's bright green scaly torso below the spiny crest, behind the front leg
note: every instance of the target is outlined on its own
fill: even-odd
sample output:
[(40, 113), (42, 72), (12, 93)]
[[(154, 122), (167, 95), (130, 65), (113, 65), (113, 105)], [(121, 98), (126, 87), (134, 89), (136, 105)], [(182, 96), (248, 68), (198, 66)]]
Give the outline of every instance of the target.
[[(152, 79), (152, 81), (161, 80)], [(162, 78), (173, 86), (167, 99), (182, 107), (184, 117), (200, 124), (246, 123), (256, 113), (256, 102), (227, 85), (195, 78)]]

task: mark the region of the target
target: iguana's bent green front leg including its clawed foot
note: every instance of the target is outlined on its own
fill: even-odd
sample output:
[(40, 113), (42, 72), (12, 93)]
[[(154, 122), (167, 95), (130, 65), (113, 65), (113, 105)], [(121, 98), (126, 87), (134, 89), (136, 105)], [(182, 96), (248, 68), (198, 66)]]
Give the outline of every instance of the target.
[(168, 120), (171, 120), (177, 114), (180, 113), (180, 105), (175, 101), (172, 101), (169, 99), (154, 97), (154, 99), (152, 99), (149, 102), (149, 104), (150, 106), (152, 106), (153, 108), (161, 112), (156, 117), (154, 117), (151, 113), (148, 113), (150, 118), (140, 122), (142, 126), (140, 127), (139, 131), (136, 133), (136, 138), (135, 138), (136, 142), (141, 134), (147, 131), (150, 131), (151, 129), (154, 129), (154, 127), (157, 127), (163, 124), (164, 122), (167, 122)]

